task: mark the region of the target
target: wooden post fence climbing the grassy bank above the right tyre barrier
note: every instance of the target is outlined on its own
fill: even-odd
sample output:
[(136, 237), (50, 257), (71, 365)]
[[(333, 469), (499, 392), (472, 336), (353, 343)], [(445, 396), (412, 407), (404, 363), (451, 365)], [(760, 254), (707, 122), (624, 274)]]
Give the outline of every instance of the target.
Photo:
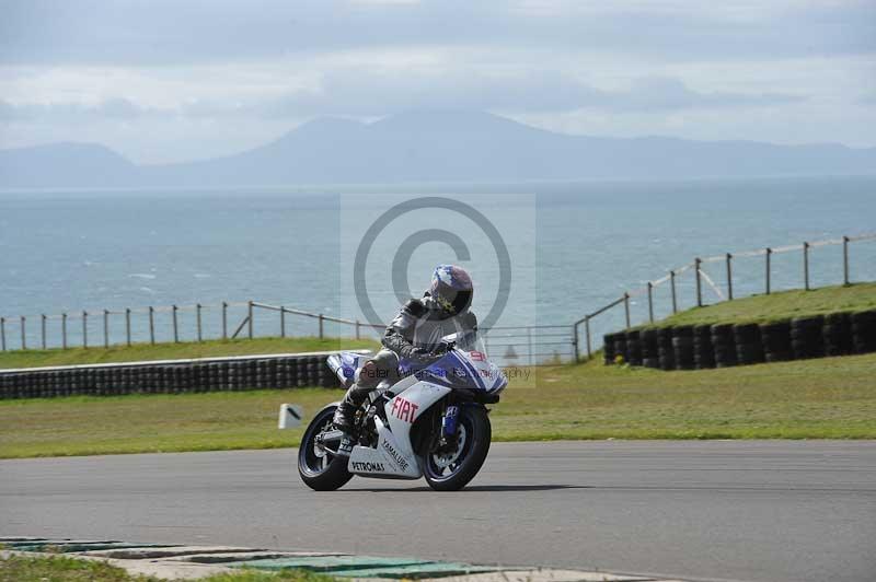
[[(646, 281), (643, 287), (623, 293), (575, 322), (574, 359), (579, 361), (583, 357), (591, 358), (602, 347), (601, 338), (604, 333), (654, 323), (678, 313), (685, 309), (685, 300), (691, 296), (693, 303), (690, 306), (703, 306), (754, 294), (769, 295), (780, 290), (808, 291), (828, 284), (848, 286), (855, 282), (852, 277), (853, 243), (873, 241), (876, 241), (876, 233), (696, 257), (687, 265), (671, 269), (659, 279)], [(841, 247), (841, 254), (814, 260), (817, 249), (830, 246)], [(782, 260), (782, 257), (786, 260)], [(861, 253), (858, 259), (865, 267), (876, 267), (876, 247)], [(816, 264), (820, 272), (816, 272)], [(777, 277), (780, 269), (781, 278)], [(876, 272), (862, 270), (866, 271), (863, 280), (874, 280)], [(662, 293), (658, 294), (658, 290)]]

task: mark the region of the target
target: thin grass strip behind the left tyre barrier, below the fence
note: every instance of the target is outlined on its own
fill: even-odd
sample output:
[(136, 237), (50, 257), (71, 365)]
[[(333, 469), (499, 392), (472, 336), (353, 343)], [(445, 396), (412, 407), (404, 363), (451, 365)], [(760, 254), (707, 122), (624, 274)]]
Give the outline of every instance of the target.
[(76, 365), (110, 362), (137, 362), (147, 360), (175, 360), (188, 358), (219, 358), (223, 356), (249, 356), (254, 353), (293, 353), (304, 351), (330, 351), (337, 349), (374, 349), (377, 342), (369, 339), (338, 338), (254, 338), (209, 340), (180, 344), (134, 344), (130, 347), (71, 348), (49, 350), (15, 350), (0, 352), (0, 369), (36, 368), (41, 365)]

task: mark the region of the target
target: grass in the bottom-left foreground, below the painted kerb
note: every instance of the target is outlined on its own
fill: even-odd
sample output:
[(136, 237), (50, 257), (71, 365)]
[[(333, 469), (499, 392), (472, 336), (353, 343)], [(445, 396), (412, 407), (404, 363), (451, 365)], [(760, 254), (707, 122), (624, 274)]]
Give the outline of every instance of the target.
[[(244, 569), (240, 572), (214, 574), (203, 582), (336, 582), (337, 579), (304, 572), (280, 570), (262, 572)], [(70, 556), (0, 557), (0, 582), (166, 582), (151, 575), (129, 574), (125, 569), (105, 561), (83, 560)]]

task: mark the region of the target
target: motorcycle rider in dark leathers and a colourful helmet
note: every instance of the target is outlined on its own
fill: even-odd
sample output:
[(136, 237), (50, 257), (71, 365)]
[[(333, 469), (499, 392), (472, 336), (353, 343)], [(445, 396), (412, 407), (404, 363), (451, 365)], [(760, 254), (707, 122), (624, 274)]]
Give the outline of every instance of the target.
[(477, 318), (469, 311), (474, 295), (472, 279), (456, 265), (438, 265), (423, 299), (412, 299), (387, 327), (383, 348), (356, 374), (356, 382), (335, 411), (335, 428), (353, 432), (356, 410), (382, 380), (399, 377), (399, 362), (419, 366), (443, 356), (443, 336), (477, 330)]

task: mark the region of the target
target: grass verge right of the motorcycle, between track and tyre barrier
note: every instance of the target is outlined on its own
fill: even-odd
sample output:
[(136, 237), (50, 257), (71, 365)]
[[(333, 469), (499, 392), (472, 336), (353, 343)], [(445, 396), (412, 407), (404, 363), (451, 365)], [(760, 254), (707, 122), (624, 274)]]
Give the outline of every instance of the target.
[(496, 406), (502, 440), (873, 439), (876, 354), (701, 371), (539, 371)]

